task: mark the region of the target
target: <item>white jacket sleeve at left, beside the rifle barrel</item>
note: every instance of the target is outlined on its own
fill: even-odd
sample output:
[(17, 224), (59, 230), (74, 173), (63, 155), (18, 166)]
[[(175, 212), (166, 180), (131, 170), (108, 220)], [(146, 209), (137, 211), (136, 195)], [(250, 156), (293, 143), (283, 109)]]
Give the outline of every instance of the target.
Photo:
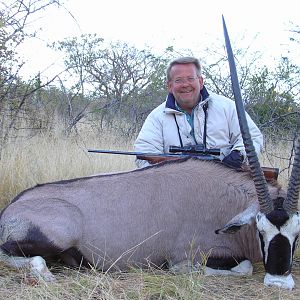
[[(134, 143), (134, 149), (143, 153), (164, 153), (162, 123), (155, 112), (146, 118), (141, 131)], [(146, 160), (136, 160), (137, 167), (146, 167), (150, 163)]]

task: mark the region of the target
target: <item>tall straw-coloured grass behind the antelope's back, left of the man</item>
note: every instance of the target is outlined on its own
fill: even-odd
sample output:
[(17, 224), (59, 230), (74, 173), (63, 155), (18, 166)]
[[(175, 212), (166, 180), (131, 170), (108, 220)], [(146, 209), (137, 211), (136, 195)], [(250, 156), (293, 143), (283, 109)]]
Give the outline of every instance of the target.
[(132, 150), (132, 142), (111, 132), (76, 137), (40, 134), (16, 140), (3, 149), (0, 161), (0, 205), (25, 188), (54, 180), (135, 168), (133, 156), (88, 153), (88, 148)]

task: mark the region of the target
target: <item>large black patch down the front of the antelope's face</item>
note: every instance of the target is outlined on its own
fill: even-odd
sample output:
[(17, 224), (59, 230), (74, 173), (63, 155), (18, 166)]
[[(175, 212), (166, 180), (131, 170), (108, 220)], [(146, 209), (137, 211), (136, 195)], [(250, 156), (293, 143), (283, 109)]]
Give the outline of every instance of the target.
[(269, 244), (266, 271), (271, 275), (288, 275), (291, 272), (291, 259), (289, 240), (277, 234)]

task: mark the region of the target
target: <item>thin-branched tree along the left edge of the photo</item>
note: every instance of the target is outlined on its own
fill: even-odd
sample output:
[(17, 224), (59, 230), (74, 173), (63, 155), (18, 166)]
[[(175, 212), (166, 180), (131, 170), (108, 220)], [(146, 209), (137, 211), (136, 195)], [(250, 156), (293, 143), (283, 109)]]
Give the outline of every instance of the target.
[(59, 4), (58, 0), (0, 2), (0, 158), (12, 131), (24, 120), (19, 116), (27, 100), (37, 91), (32, 82), (25, 84), (18, 76), (24, 63), (16, 54), (17, 47), (29, 35), (26, 27), (30, 17), (54, 4)]

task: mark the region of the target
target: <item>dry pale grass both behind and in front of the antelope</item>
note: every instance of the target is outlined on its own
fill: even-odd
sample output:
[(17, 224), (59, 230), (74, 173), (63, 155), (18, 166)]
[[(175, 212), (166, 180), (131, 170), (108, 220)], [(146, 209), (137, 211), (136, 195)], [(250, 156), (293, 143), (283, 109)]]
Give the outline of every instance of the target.
[[(4, 150), (0, 161), (0, 205), (37, 183), (135, 168), (134, 157), (89, 154), (86, 148), (132, 150), (132, 143), (85, 133), (80, 139), (38, 136)], [(283, 150), (280, 150), (283, 151)], [(265, 161), (264, 161), (265, 160)], [(274, 162), (276, 163), (276, 162)], [(263, 164), (272, 166), (267, 157)], [(280, 163), (281, 164), (281, 163)], [(280, 165), (280, 169), (285, 165)], [(284, 175), (285, 176), (285, 175)], [(285, 177), (281, 181), (285, 184)], [(56, 266), (53, 284), (28, 284), (28, 274), (0, 265), (2, 299), (300, 299), (300, 259), (296, 257), (293, 291), (267, 288), (264, 270), (254, 266), (251, 277), (206, 277), (200, 273), (172, 275), (165, 271), (132, 270), (103, 274), (96, 270), (70, 270)]]

